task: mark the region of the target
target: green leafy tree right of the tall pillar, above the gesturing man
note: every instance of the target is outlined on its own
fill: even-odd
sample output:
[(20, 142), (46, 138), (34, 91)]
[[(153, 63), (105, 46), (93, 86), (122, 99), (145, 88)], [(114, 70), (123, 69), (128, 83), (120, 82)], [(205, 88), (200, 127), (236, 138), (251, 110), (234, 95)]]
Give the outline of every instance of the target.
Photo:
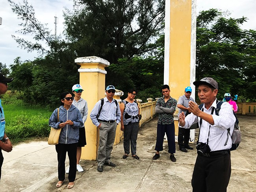
[(226, 18), (225, 14), (210, 9), (197, 17), (196, 79), (216, 79), (219, 98), (230, 92), (254, 100), (256, 31), (241, 29), (247, 18)]

